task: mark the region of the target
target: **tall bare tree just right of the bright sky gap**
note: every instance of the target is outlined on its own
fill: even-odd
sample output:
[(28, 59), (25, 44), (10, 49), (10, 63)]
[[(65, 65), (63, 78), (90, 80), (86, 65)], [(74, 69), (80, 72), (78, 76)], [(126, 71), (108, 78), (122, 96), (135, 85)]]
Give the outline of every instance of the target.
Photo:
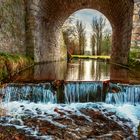
[[(97, 55), (101, 55), (103, 30), (104, 30), (105, 24), (106, 24), (105, 19), (102, 16), (100, 16), (99, 18), (94, 17), (92, 20), (92, 31), (93, 31), (92, 39), (95, 39), (95, 42), (96, 42)], [(95, 47), (94, 44), (92, 44), (92, 46)]]

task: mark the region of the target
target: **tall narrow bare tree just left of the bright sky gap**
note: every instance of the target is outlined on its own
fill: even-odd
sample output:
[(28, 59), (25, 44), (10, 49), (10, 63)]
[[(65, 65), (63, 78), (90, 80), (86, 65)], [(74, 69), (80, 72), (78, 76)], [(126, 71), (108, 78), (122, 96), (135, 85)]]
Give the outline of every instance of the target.
[(79, 41), (79, 54), (84, 55), (84, 48), (86, 44), (85, 26), (81, 21), (78, 20), (76, 22), (76, 28), (77, 28), (77, 35)]

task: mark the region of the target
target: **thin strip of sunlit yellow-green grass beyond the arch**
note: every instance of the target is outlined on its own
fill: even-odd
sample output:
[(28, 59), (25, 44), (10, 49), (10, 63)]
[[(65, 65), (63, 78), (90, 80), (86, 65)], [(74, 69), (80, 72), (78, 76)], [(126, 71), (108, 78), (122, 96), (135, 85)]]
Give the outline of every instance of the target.
[(83, 58), (83, 59), (110, 59), (110, 56), (104, 55), (71, 55), (72, 58)]

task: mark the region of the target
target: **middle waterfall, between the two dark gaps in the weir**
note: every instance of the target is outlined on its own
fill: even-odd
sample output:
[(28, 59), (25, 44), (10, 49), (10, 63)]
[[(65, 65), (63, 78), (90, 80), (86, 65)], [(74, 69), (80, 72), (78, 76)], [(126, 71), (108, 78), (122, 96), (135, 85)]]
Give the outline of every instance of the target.
[(65, 85), (65, 103), (102, 101), (102, 82), (71, 82)]

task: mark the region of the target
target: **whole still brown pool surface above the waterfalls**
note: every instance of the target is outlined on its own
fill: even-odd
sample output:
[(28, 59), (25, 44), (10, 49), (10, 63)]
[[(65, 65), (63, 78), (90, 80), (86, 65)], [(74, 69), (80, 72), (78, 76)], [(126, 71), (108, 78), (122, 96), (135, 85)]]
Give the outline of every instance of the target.
[(111, 65), (106, 61), (76, 59), (50, 62), (34, 67), (13, 77), (18, 82), (39, 82), (52, 80), (66, 81), (103, 81), (111, 80), (125, 83), (140, 83), (140, 73)]

